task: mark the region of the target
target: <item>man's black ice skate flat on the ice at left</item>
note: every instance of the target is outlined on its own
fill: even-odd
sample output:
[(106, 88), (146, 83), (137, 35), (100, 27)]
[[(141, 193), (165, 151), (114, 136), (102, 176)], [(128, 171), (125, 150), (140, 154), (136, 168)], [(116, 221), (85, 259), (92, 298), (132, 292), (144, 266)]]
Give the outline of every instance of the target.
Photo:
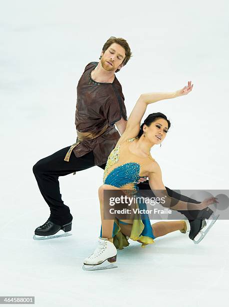
[(49, 219), (47, 219), (47, 221), (43, 225), (35, 229), (33, 240), (46, 240), (58, 237), (71, 236), (71, 233), (68, 233), (68, 231), (70, 230), (71, 222), (60, 226), (52, 223), (51, 221), (49, 221)]

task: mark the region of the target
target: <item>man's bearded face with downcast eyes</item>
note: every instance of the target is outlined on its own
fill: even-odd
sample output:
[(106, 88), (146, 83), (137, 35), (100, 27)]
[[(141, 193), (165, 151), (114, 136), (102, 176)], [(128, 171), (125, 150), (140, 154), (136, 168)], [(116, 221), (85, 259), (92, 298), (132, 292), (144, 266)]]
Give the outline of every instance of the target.
[(101, 56), (102, 68), (104, 68), (106, 71), (115, 72), (117, 68), (121, 69), (123, 66), (121, 63), (125, 58), (125, 49), (120, 45), (113, 43), (104, 53), (103, 51), (101, 52)]

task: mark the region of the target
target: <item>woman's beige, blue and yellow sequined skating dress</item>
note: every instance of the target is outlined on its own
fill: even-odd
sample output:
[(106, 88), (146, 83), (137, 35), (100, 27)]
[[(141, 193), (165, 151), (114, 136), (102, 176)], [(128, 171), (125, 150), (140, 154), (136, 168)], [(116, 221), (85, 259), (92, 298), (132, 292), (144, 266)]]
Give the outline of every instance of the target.
[[(130, 197), (134, 196), (142, 198), (137, 186), (140, 169), (142, 168), (142, 170), (147, 170), (147, 165), (151, 163), (150, 160), (154, 159), (152, 159), (150, 154), (145, 158), (132, 154), (132, 152), (128, 149), (128, 142), (131, 142), (137, 138), (138, 137), (132, 137), (127, 139), (119, 145), (116, 145), (110, 152), (104, 169), (103, 184), (119, 188)], [(135, 207), (142, 212), (147, 209), (144, 202), (136, 202)], [(102, 229), (100, 231), (100, 236), (101, 235)], [(120, 232), (118, 222), (116, 224), (115, 221), (113, 225), (112, 237), (113, 244), (116, 246), (116, 248), (121, 249), (123, 246), (128, 245), (126, 237)], [(153, 239), (155, 237), (152, 233), (152, 227), (147, 214), (139, 213), (137, 214), (137, 217), (133, 219), (129, 238), (134, 241), (141, 242), (142, 247), (147, 244), (154, 243)]]

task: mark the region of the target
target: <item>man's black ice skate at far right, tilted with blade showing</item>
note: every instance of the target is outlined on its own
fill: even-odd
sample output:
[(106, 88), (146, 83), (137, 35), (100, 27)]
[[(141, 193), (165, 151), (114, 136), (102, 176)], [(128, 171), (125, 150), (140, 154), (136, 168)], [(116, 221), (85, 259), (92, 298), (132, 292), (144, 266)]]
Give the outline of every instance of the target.
[(193, 243), (198, 244), (205, 237), (218, 217), (219, 214), (214, 215), (213, 211), (207, 207), (199, 210), (199, 214), (195, 220), (189, 220), (190, 231), (188, 236)]

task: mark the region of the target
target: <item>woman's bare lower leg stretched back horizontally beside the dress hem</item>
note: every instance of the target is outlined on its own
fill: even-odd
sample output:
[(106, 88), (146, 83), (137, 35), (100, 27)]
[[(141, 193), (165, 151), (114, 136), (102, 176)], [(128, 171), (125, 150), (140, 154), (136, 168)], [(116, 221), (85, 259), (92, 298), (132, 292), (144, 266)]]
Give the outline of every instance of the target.
[(157, 238), (164, 236), (169, 232), (185, 229), (186, 223), (184, 221), (157, 222), (151, 226), (153, 235), (155, 238)]

